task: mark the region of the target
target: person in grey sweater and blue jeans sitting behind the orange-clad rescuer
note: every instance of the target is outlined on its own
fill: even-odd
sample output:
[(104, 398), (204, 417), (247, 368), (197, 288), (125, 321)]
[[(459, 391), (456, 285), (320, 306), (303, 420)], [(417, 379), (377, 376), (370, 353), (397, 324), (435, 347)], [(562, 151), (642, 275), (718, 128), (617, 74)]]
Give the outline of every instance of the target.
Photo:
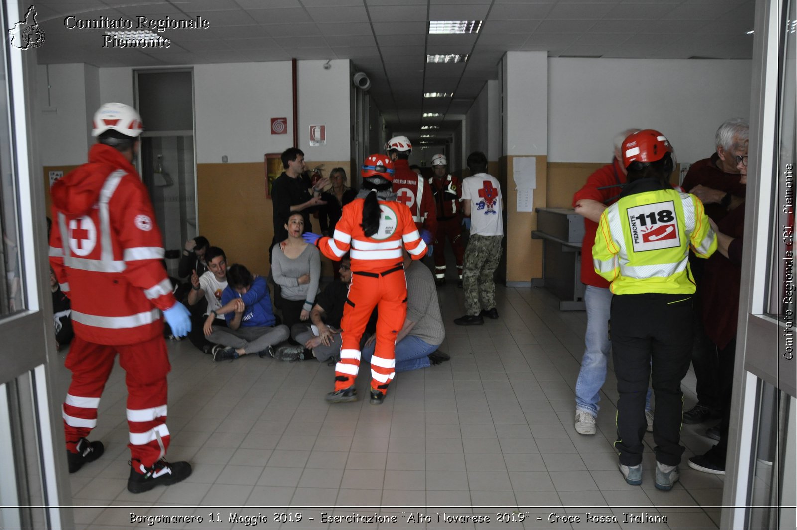
[[(396, 336), (395, 371), (421, 370), (448, 361), (450, 357), (438, 350), (446, 338), (446, 326), (440, 314), (438, 291), (434, 276), (423, 263), (413, 263), (404, 251), (406, 271), (406, 318)], [(363, 360), (371, 362), (376, 335), (371, 335), (363, 348)]]

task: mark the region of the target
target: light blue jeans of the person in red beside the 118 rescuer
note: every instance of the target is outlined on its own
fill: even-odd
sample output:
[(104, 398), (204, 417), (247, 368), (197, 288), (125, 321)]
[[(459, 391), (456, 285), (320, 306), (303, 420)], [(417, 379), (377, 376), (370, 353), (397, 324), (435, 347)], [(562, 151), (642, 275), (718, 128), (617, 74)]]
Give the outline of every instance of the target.
[[(581, 359), (579, 379), (575, 382), (575, 409), (598, 415), (600, 390), (606, 382), (606, 367), (611, 352), (609, 317), (611, 291), (587, 285), (584, 306), (587, 307), (587, 334), (584, 337), (584, 356)], [(650, 388), (645, 398), (645, 409), (650, 410)]]

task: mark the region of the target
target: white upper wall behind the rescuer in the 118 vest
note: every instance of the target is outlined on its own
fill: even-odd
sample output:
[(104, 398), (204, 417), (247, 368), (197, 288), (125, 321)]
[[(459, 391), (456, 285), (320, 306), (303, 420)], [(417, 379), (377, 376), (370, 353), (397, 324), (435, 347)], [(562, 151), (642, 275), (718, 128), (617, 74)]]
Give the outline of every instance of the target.
[(611, 160), (622, 129), (658, 129), (678, 160), (714, 152), (714, 133), (749, 117), (751, 61), (548, 60), (549, 162)]

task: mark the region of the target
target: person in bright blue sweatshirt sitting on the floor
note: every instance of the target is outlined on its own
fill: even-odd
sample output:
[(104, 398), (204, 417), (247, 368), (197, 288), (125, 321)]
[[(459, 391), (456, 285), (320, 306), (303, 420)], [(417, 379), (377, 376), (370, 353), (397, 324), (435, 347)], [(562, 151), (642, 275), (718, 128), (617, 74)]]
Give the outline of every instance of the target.
[[(220, 315), (226, 318), (228, 329), (214, 327), (214, 319)], [(222, 307), (210, 311), (203, 330), (210, 342), (222, 346), (212, 349), (216, 362), (247, 354), (262, 358), (269, 354), (271, 346), (289, 337), (288, 326), (274, 326), (276, 322), (265, 279), (236, 263), (227, 269)]]

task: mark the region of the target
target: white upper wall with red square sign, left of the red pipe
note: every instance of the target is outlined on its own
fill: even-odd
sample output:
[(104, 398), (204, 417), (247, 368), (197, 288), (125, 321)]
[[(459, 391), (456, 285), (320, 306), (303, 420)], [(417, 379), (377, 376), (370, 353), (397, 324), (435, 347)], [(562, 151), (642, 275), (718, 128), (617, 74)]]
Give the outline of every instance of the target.
[[(293, 144), (291, 63), (194, 66), (197, 163), (257, 162)], [(287, 117), (288, 133), (271, 134), (271, 118)]]

